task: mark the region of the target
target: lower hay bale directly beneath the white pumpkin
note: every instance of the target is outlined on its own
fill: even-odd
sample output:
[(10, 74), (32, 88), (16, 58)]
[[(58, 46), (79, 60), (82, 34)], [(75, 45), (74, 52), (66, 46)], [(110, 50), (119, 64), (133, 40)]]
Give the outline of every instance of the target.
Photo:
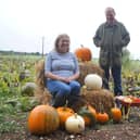
[(100, 112), (101, 105), (103, 105), (104, 112), (111, 113), (111, 109), (114, 106), (114, 96), (111, 91), (105, 89), (100, 90), (87, 90), (81, 89), (81, 97), (77, 103), (75, 103), (72, 107), (74, 111), (78, 111), (85, 104), (92, 105), (97, 112)]

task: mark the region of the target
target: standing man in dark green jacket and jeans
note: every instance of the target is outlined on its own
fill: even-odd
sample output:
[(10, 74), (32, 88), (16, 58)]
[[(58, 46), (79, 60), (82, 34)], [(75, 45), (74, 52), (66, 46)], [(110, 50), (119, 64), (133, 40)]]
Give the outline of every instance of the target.
[(105, 9), (106, 22), (101, 24), (93, 37), (93, 42), (100, 47), (100, 66), (104, 69), (103, 86), (109, 87), (110, 71), (114, 79), (114, 93), (122, 96), (122, 51), (129, 41), (129, 33), (123, 23), (116, 21), (113, 8)]

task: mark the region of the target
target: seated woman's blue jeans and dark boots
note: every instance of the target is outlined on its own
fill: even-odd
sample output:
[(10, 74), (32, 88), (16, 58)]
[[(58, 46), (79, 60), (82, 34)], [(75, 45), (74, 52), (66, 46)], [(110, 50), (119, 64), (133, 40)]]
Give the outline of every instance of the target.
[(48, 80), (47, 88), (55, 99), (54, 106), (65, 105), (66, 100), (69, 104), (77, 101), (80, 93), (80, 84), (76, 80), (72, 80), (66, 84), (59, 80)]

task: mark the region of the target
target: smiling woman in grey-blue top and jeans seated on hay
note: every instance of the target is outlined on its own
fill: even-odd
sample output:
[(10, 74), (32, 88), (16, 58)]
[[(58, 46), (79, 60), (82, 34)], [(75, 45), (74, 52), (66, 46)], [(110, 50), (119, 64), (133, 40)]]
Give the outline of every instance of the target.
[(66, 101), (71, 106), (78, 100), (80, 85), (79, 67), (76, 56), (69, 52), (69, 37), (66, 34), (58, 36), (55, 48), (46, 59), (44, 76), (47, 88), (53, 96), (53, 106), (63, 106)]

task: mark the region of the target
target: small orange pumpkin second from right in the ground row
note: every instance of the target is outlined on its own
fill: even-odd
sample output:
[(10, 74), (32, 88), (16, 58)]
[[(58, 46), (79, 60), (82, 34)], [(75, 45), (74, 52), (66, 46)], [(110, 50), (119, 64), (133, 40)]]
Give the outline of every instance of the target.
[(100, 123), (100, 124), (105, 124), (109, 122), (109, 115), (107, 113), (97, 113), (97, 120)]

